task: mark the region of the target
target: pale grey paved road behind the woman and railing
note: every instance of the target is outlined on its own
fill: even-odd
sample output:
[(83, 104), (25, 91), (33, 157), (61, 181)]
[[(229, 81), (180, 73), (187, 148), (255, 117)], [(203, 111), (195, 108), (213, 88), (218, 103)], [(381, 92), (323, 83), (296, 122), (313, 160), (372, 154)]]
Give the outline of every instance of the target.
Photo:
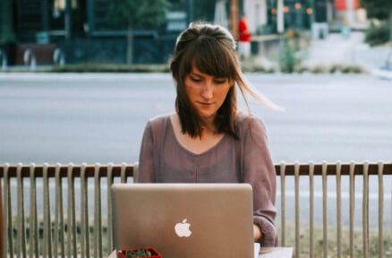
[[(285, 107), (277, 112), (251, 100), (275, 162), (391, 161), (390, 82), (341, 74), (248, 78)], [(174, 93), (169, 74), (0, 74), (0, 163), (137, 161), (146, 121), (172, 112)]]

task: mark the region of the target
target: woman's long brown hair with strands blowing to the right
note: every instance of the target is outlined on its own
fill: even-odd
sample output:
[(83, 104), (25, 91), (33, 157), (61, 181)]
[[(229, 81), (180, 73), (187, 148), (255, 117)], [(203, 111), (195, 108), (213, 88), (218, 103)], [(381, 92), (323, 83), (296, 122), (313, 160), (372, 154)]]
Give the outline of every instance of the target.
[[(245, 102), (244, 91), (263, 103), (268, 101), (258, 92), (251, 89), (246, 82), (241, 64), (235, 52), (235, 40), (226, 28), (205, 22), (193, 22), (178, 36), (175, 53), (170, 60), (170, 70), (176, 83), (175, 110), (180, 117), (183, 133), (192, 137), (201, 136), (203, 120), (192, 107), (186, 94), (183, 82), (192, 72), (193, 65), (201, 72), (211, 76), (227, 78), (236, 82)], [(217, 133), (228, 133), (238, 138), (234, 128), (234, 117), (237, 112), (236, 89), (231, 87), (226, 99), (217, 110), (215, 129)], [(249, 110), (250, 112), (250, 110)]]

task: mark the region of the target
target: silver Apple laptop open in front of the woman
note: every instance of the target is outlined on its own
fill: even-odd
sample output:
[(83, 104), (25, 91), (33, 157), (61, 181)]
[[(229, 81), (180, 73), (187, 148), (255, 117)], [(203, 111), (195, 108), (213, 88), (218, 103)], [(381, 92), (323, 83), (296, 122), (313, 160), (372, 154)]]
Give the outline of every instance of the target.
[(114, 184), (115, 249), (164, 258), (253, 258), (248, 184)]

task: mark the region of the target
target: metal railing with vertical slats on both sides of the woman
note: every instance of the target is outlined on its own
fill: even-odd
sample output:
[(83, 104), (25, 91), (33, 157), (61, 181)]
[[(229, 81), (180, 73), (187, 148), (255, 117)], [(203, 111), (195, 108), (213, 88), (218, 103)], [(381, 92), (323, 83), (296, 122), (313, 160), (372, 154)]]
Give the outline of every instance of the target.
[[(342, 231), (347, 229), (349, 251), (344, 257), (357, 257), (354, 254), (354, 238), (356, 230), (362, 232), (362, 257), (386, 257), (384, 232), (386, 218), (384, 216), (385, 179), (392, 175), (392, 163), (280, 163), (275, 164), (278, 176), (277, 194), (277, 226), (280, 230), (280, 245), (294, 245), (295, 257), (315, 257), (317, 225), (315, 211), (322, 213), (321, 242), (322, 256), (328, 257), (328, 233), (331, 228), (336, 230), (336, 245), (334, 257), (344, 256)], [(107, 191), (114, 182), (131, 183), (137, 181), (137, 166), (135, 164), (95, 164), (95, 165), (0, 165), (0, 177), (3, 179), (3, 224), (4, 251), (2, 257), (107, 257), (114, 249), (111, 221), (111, 193)], [(376, 185), (371, 177), (377, 178)], [(315, 178), (320, 179), (319, 181)], [(358, 185), (356, 179), (360, 178)], [(280, 180), (279, 180), (280, 179)], [(308, 179), (308, 182), (303, 182)], [(332, 179), (332, 181), (330, 180)], [(347, 179), (342, 180), (342, 179)], [(374, 179), (374, 178), (373, 178)], [(330, 182), (334, 182), (333, 187)], [(342, 182), (346, 185), (342, 186)], [(372, 187), (370, 187), (370, 182)], [(320, 183), (319, 185), (317, 185)], [(305, 185), (303, 185), (305, 184)], [(330, 184), (330, 185), (328, 185)], [(316, 185), (316, 191), (315, 191)], [(1, 186), (1, 185), (0, 185)], [(304, 187), (306, 186), (306, 187)], [(355, 186), (362, 188), (362, 193), (355, 192)], [(374, 187), (373, 187), (374, 186)], [(292, 187), (294, 193), (286, 191)], [(303, 189), (309, 187), (305, 191)], [(342, 187), (346, 190), (342, 191)], [(320, 188), (320, 189), (319, 189)], [(376, 189), (374, 189), (376, 188)], [(0, 187), (1, 189), (1, 187)], [(302, 190), (301, 190), (302, 189)], [(335, 192), (330, 190), (334, 189)], [(28, 193), (26, 193), (28, 190)], [(370, 246), (370, 193), (376, 191), (378, 204), (375, 209), (378, 214), (378, 226), (371, 228), (377, 232), (377, 250)], [(303, 194), (305, 193), (305, 194)], [(320, 193), (320, 194), (319, 194)], [(331, 194), (333, 193), (333, 194)], [(320, 195), (320, 196), (319, 196)], [(360, 195), (360, 196), (358, 196)], [(388, 196), (388, 195), (387, 195)], [(322, 207), (318, 209), (322, 199)], [(342, 209), (348, 199), (348, 225), (342, 225)], [(289, 198), (294, 198), (294, 210), (287, 210)], [(301, 198), (308, 199), (302, 202)], [(336, 222), (329, 223), (330, 199), (336, 203)], [(360, 200), (362, 211), (355, 211), (356, 199)], [(328, 201), (329, 200), (329, 201)], [(390, 203), (389, 203), (390, 204)], [(374, 203), (372, 203), (374, 206)], [(302, 223), (300, 212), (309, 210), (309, 219)], [(28, 211), (28, 212), (26, 212)], [(91, 214), (92, 211), (92, 214)], [(294, 213), (294, 243), (288, 239), (288, 215)], [(362, 224), (358, 227), (355, 219), (361, 217)], [(334, 225), (332, 225), (334, 224)], [(303, 228), (309, 228), (309, 244), (305, 244), (306, 254), (302, 254)], [(344, 241), (345, 240), (345, 241)], [(319, 241), (319, 240), (318, 240)]]

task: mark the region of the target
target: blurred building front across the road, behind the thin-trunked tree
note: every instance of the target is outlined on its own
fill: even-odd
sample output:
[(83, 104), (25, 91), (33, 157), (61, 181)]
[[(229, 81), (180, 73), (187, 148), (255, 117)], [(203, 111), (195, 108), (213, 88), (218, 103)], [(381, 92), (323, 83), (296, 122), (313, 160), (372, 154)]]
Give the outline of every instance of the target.
[[(126, 28), (107, 16), (110, 0), (1, 0), (0, 57), (9, 65), (65, 62), (125, 64)], [(254, 39), (287, 30), (309, 30), (325, 37), (336, 24), (351, 26), (359, 0), (169, 0), (166, 22), (133, 30), (132, 63), (163, 64), (178, 32), (189, 22), (217, 22), (235, 31), (235, 19), (248, 16)], [(363, 15), (362, 15), (363, 16)], [(257, 38), (259, 37), (259, 39)], [(261, 40), (261, 39), (260, 39)], [(30, 52), (29, 52), (30, 51)]]

